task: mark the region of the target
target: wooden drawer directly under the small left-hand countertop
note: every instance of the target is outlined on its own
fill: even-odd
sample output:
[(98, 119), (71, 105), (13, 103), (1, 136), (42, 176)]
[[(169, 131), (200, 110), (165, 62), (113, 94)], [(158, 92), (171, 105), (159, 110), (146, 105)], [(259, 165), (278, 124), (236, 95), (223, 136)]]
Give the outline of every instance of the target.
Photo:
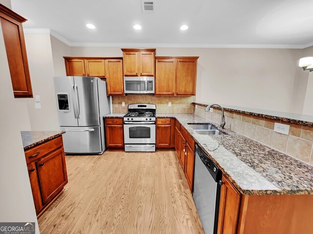
[(62, 137), (57, 137), (35, 148), (25, 151), (26, 163), (30, 163), (63, 146)]

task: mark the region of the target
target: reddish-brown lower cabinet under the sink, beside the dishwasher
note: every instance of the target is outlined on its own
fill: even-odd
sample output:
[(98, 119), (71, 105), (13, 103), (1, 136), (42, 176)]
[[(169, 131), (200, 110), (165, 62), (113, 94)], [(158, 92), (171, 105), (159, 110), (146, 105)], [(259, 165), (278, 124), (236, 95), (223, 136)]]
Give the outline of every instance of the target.
[(195, 169), (194, 149), (195, 141), (187, 131), (177, 123), (175, 128), (175, 150), (191, 192), (193, 191)]

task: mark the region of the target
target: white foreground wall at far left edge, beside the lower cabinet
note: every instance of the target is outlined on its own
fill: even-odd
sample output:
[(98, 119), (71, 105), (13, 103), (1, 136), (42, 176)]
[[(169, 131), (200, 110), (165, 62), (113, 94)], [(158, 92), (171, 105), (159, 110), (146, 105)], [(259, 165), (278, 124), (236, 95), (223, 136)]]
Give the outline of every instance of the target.
[[(1, 1), (2, 2), (2, 1)], [(0, 221), (38, 222), (21, 130), (30, 130), (25, 99), (15, 99), (0, 25)]]

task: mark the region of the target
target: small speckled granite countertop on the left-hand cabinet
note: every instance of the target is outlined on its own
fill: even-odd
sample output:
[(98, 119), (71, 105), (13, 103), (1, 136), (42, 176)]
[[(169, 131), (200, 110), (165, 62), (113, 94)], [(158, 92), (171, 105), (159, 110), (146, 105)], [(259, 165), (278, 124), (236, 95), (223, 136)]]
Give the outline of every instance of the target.
[(59, 137), (65, 131), (22, 131), (22, 142), (24, 151), (40, 145), (48, 140)]

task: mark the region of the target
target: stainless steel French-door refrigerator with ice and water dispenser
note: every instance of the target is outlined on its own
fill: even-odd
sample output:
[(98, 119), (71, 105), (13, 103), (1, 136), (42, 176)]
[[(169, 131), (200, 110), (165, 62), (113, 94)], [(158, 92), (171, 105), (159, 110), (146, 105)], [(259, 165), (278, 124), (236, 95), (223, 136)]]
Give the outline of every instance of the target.
[(102, 154), (103, 116), (110, 114), (107, 83), (96, 77), (55, 77), (58, 117), (66, 154)]

